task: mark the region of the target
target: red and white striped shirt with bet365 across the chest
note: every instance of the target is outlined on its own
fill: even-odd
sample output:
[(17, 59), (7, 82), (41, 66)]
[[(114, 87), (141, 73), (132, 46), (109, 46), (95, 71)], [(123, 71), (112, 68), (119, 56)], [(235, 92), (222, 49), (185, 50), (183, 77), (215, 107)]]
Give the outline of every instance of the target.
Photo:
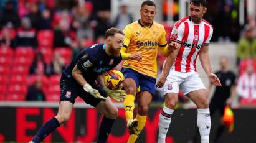
[(179, 72), (196, 71), (196, 59), (203, 45), (209, 45), (213, 28), (203, 19), (201, 24), (194, 24), (187, 16), (174, 24), (171, 41), (181, 44), (171, 70)]

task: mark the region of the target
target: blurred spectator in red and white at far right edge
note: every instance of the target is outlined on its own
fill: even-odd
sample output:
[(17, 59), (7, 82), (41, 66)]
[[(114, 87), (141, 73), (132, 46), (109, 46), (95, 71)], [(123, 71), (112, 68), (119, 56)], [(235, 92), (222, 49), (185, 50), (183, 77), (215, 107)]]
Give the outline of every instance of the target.
[(256, 74), (252, 65), (248, 65), (247, 71), (239, 77), (237, 84), (237, 95), (240, 103), (251, 103), (256, 99)]

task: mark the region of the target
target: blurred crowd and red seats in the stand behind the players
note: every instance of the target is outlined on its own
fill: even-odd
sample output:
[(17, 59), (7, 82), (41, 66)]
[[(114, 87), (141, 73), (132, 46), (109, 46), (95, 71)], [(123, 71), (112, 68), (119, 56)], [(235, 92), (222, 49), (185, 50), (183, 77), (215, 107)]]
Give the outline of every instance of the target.
[[(155, 2), (156, 21), (164, 25), (169, 40), (173, 22), (179, 19), (179, 1)], [(214, 27), (212, 43), (236, 44), (232, 50), (237, 60), (230, 62), (236, 65), (232, 71), (237, 75), (237, 102), (256, 106), (255, 14), (245, 11), (244, 22), (240, 22), (239, 0), (207, 3), (205, 19)], [(121, 0), (0, 0), (0, 100), (58, 102), (65, 66), (80, 50), (103, 43), (108, 28), (124, 29), (138, 20), (140, 4)], [(115, 14), (114, 7), (118, 9)], [(160, 73), (164, 57), (159, 55), (158, 61)], [(160, 94), (158, 90), (155, 102), (163, 101)], [(181, 103), (187, 102), (182, 93), (180, 97)]]

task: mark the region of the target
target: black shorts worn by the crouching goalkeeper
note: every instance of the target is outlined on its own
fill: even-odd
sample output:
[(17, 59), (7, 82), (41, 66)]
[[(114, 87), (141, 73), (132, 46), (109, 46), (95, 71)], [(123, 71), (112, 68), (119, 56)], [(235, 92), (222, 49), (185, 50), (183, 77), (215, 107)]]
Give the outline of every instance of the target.
[[(86, 80), (86, 79), (85, 79)], [(103, 91), (103, 88), (97, 83), (90, 83), (92, 88), (99, 91), (100, 95), (107, 97), (107, 93)], [(60, 78), (60, 101), (70, 101), (72, 104), (75, 103), (75, 99), (79, 96), (85, 101), (85, 103), (92, 106), (97, 106), (100, 103), (100, 99), (97, 99), (83, 90), (83, 86), (79, 85), (75, 79), (70, 75), (62, 73)]]

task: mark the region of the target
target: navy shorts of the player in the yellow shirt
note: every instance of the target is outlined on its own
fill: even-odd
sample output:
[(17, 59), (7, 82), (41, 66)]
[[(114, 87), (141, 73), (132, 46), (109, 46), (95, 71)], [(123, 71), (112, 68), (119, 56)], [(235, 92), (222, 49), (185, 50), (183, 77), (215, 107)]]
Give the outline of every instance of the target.
[(139, 89), (138, 91), (146, 90), (154, 95), (154, 92), (156, 91), (156, 78), (143, 75), (135, 70), (132, 70), (131, 68), (122, 68), (121, 72), (123, 73), (125, 78), (132, 78), (133, 80), (135, 80), (136, 87)]

